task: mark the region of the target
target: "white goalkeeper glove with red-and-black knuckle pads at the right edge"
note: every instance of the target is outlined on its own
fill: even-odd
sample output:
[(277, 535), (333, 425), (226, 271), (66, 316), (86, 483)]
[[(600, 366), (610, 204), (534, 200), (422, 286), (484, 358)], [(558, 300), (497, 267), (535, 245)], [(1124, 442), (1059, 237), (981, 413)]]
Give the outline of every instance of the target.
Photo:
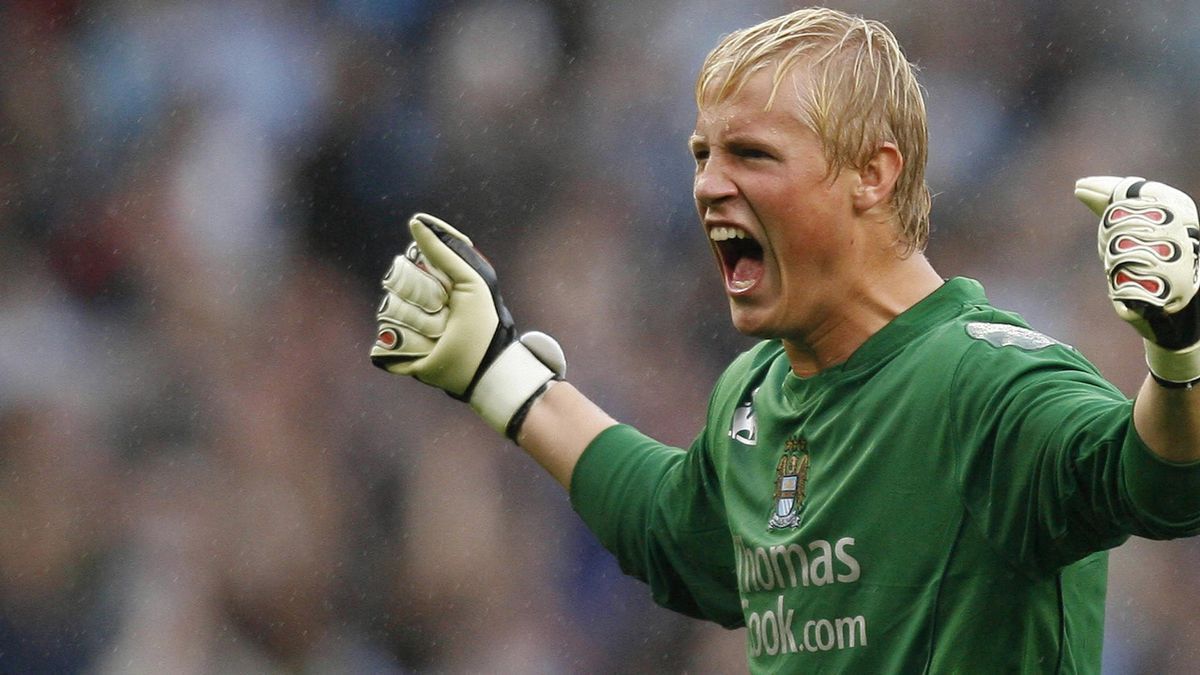
[(1190, 197), (1138, 177), (1090, 177), (1075, 196), (1100, 216), (1098, 244), (1109, 299), (1146, 341), (1160, 383), (1200, 378), (1200, 223)]

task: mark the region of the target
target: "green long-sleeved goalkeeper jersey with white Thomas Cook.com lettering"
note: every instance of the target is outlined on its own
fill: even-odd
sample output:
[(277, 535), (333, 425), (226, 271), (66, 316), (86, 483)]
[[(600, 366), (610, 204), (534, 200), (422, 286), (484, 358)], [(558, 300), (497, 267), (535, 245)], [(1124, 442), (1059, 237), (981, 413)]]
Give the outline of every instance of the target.
[(814, 377), (742, 354), (688, 450), (608, 429), (571, 501), (658, 603), (745, 626), (756, 673), (1094, 673), (1103, 551), (1200, 531), (1200, 464), (1130, 411), (954, 279)]

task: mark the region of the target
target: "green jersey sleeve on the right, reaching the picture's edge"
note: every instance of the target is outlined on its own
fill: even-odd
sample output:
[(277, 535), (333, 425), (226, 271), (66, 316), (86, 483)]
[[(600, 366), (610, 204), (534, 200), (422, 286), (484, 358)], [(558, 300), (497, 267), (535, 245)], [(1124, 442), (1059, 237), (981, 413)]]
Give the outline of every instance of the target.
[(1074, 352), (980, 344), (950, 389), (965, 506), (1021, 566), (1200, 532), (1200, 465), (1153, 456), (1130, 401)]

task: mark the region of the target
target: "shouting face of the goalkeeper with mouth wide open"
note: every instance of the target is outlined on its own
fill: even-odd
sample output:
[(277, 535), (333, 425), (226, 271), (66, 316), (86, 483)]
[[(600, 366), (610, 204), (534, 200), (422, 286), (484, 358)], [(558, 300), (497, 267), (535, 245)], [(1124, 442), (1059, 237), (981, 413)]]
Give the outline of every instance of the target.
[(764, 110), (772, 73), (763, 68), (736, 96), (703, 107), (690, 142), (696, 209), (733, 325), (757, 338), (811, 340), (852, 306), (864, 273), (858, 173), (829, 174), (821, 142), (799, 120), (803, 83), (785, 80)]

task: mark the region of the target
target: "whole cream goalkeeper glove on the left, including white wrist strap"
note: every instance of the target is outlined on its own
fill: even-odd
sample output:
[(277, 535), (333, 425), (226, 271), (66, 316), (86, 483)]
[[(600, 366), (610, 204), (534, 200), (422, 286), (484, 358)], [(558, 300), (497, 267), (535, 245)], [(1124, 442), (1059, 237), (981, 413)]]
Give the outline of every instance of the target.
[(470, 239), (416, 214), (413, 244), (383, 277), (371, 363), (468, 401), (492, 428), (516, 438), (529, 406), (566, 371), (544, 333), (517, 338), (496, 270)]

